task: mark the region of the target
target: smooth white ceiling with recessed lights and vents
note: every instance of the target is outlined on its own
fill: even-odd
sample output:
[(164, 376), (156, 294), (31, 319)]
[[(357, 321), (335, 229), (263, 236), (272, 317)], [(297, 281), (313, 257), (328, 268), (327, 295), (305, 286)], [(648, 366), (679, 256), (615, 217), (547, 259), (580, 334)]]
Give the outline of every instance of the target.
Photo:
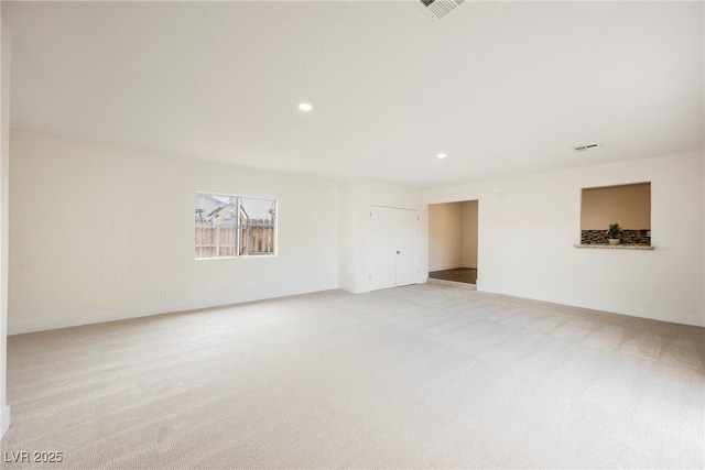
[(2, 18), (17, 129), (416, 187), (703, 150), (703, 2), (468, 0), (433, 22), (399, 1), (2, 1)]

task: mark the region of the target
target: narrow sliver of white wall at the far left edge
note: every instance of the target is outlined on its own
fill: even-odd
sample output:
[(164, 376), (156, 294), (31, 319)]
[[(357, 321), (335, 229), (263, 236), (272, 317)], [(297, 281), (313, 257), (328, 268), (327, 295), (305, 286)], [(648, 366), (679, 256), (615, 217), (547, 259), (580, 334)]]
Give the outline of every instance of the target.
[(0, 438), (10, 427), (7, 406), (7, 332), (8, 332), (8, 212), (10, 162), (10, 57), (12, 35), (0, 19), (2, 39), (0, 91)]

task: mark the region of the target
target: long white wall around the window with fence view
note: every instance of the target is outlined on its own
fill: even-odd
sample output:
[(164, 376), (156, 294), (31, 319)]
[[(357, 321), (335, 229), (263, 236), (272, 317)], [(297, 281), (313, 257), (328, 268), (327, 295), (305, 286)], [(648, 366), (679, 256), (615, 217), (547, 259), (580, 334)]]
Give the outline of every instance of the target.
[[(338, 286), (336, 182), (11, 138), (10, 334)], [(197, 190), (278, 199), (279, 255), (196, 261)]]

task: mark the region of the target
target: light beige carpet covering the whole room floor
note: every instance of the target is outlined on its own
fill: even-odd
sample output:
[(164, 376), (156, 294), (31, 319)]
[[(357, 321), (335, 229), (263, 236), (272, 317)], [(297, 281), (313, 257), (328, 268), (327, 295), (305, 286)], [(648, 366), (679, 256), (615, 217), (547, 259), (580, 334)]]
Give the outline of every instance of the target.
[(62, 451), (54, 469), (702, 469), (704, 341), (438, 284), (13, 336), (2, 450)]

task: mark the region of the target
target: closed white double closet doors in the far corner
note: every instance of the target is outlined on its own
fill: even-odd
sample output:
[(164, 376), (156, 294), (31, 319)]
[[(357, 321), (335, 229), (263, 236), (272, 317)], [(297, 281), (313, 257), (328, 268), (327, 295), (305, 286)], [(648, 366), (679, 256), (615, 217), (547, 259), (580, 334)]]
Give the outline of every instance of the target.
[(370, 289), (414, 284), (419, 278), (419, 212), (370, 206)]

